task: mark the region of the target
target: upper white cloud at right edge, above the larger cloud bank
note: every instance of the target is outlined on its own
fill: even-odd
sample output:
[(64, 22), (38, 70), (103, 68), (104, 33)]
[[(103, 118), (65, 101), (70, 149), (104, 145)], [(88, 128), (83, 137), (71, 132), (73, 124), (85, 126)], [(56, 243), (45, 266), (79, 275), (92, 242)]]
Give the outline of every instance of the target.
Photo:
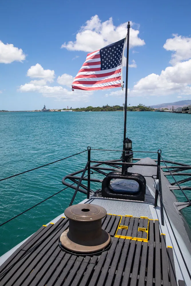
[(179, 61), (191, 58), (191, 37), (183, 37), (173, 34), (173, 38), (167, 39), (163, 46), (167, 51), (173, 51), (170, 63), (172, 65)]

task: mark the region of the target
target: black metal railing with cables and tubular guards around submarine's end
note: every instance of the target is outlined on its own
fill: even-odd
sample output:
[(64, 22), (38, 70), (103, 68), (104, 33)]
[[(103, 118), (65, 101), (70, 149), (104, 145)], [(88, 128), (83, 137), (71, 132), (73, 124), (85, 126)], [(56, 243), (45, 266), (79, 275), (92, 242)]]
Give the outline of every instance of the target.
[[(12, 177), (15, 177), (15, 176), (18, 176), (18, 175), (21, 175), (21, 174), (25, 174), (27, 172), (30, 172), (30, 171), (33, 171), (33, 170), (37, 170), (39, 168), (42, 168), (42, 167), (45, 167), (45, 166), (48, 166), (50, 164), (54, 164), (56, 162), (59, 162), (59, 161), (62, 161), (62, 160), (65, 160), (67, 158), (71, 158), (73, 156), (76, 156), (78, 154), (81, 154), (81, 153), (84, 153), (84, 152), (88, 152), (88, 161), (86, 163), (86, 166), (84, 169), (82, 170), (79, 170), (79, 171), (76, 171), (74, 173), (71, 173), (71, 174), (68, 174), (67, 176), (65, 176), (63, 179), (62, 179), (62, 183), (64, 185), (66, 185), (66, 188), (58, 191), (57, 193), (53, 194), (52, 196), (55, 196), (56, 194), (62, 192), (63, 190), (67, 189), (67, 188), (73, 188), (75, 191), (74, 191), (74, 194), (72, 196), (72, 200), (70, 201), (70, 205), (73, 204), (74, 202), (74, 199), (76, 197), (76, 194), (79, 192), (82, 192), (84, 194), (86, 194), (86, 197), (87, 199), (90, 198), (90, 195), (93, 195), (94, 194), (94, 191), (91, 190), (90, 186), (91, 186), (91, 182), (94, 182), (94, 183), (102, 183), (102, 179), (98, 179), (98, 178), (92, 178), (91, 175), (93, 174), (99, 174), (99, 175), (103, 175), (103, 176), (106, 176), (108, 174), (108, 171), (111, 172), (111, 171), (119, 171), (121, 170), (121, 167), (123, 165), (126, 165), (126, 166), (152, 166), (152, 167), (157, 167), (157, 171), (155, 174), (151, 175), (151, 176), (145, 176), (145, 177), (152, 177), (153, 180), (158, 180), (158, 183), (159, 183), (159, 190), (156, 190), (155, 191), (155, 207), (157, 207), (157, 200), (158, 200), (158, 195), (160, 194), (160, 207), (161, 207), (161, 222), (162, 222), (162, 225), (164, 225), (164, 213), (163, 213), (163, 201), (162, 201), (162, 183), (161, 183), (161, 170), (163, 169), (167, 169), (168, 171), (165, 172), (163, 171), (163, 174), (165, 176), (172, 176), (172, 178), (174, 179), (174, 182), (171, 183), (171, 186), (173, 188), (173, 186), (175, 186), (174, 188), (181, 190), (182, 194), (185, 196), (185, 198), (187, 199), (187, 202), (189, 203), (189, 206), (191, 205), (191, 201), (190, 199), (188, 198), (187, 194), (184, 192), (184, 190), (190, 190), (191, 187), (190, 186), (186, 186), (186, 187), (181, 187), (180, 184), (182, 183), (185, 183), (185, 182), (188, 182), (191, 180), (191, 177), (189, 178), (186, 178), (186, 179), (183, 179), (183, 180), (179, 180), (177, 181), (176, 178), (174, 176), (191, 176), (191, 173), (185, 173), (185, 172), (182, 172), (182, 171), (185, 171), (185, 170), (189, 170), (191, 169), (191, 165), (188, 165), (188, 164), (183, 164), (183, 163), (178, 163), (178, 162), (174, 162), (174, 161), (170, 161), (170, 160), (164, 160), (162, 155), (161, 155), (161, 150), (158, 150), (157, 152), (153, 152), (153, 151), (133, 151), (133, 152), (139, 152), (139, 153), (153, 153), (153, 154), (157, 154), (157, 159), (153, 159), (156, 164), (144, 164), (144, 163), (123, 163), (121, 162), (122, 160), (121, 159), (115, 159), (115, 160), (110, 160), (110, 161), (99, 161), (99, 160), (91, 160), (91, 150), (92, 151), (112, 151), (112, 152), (125, 152), (123, 150), (111, 150), (111, 149), (91, 149), (89, 146), (86, 150), (84, 151), (81, 151), (81, 152), (78, 152), (76, 154), (73, 154), (73, 155), (70, 155), (70, 156), (67, 156), (65, 158), (62, 158), (62, 159), (59, 159), (59, 160), (56, 160), (54, 162), (50, 162), (48, 164), (44, 164), (42, 166), (39, 166), (39, 167), (36, 167), (36, 168), (32, 168), (30, 170), (26, 170), (24, 172), (20, 172), (18, 174), (15, 174), (15, 175), (11, 175), (11, 176), (8, 176), (6, 178), (2, 178), (0, 179), (0, 181), (3, 181), (3, 180), (6, 180), (6, 179), (9, 179), (9, 178), (12, 178)], [(141, 158), (133, 158), (133, 161), (137, 161), (137, 160), (141, 160)], [(92, 165), (91, 166), (91, 163), (96, 163), (95, 165)], [(161, 163), (164, 163), (164, 166), (161, 166)], [(166, 163), (170, 163), (170, 164), (174, 164), (174, 165), (178, 165), (178, 169), (177, 169), (177, 166), (167, 166)], [(104, 167), (103, 165), (106, 165), (106, 167)], [(108, 167), (107, 167), (108, 166)], [(87, 175), (85, 175), (87, 171)], [(82, 173), (81, 176), (76, 176), (78, 174)], [(155, 178), (154, 178), (155, 177)], [(72, 181), (72, 184), (71, 182), (67, 182), (66, 179), (69, 179), (70, 181)], [(86, 181), (87, 182), (87, 185), (83, 184), (82, 181)], [(12, 219), (18, 217), (19, 215), (27, 212), (28, 210), (30, 210), (31, 208), (34, 208), (35, 206), (41, 204), (42, 202), (48, 200), (49, 198), (51, 198), (52, 196), (46, 198), (45, 200), (42, 200), (41, 202), (37, 203), (36, 205), (30, 207), (29, 209), (21, 212), (20, 214), (16, 215), (15, 217), (7, 220), (6, 222), (0, 224), (1, 225), (4, 225), (5, 223), (11, 221)]]

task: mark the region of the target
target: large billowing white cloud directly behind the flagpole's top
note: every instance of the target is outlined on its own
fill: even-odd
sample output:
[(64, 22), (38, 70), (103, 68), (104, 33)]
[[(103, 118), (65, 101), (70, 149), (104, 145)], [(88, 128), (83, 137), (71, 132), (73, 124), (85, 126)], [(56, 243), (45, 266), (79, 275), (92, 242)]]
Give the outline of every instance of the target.
[[(133, 25), (133, 22), (131, 22)], [(113, 42), (123, 39), (127, 34), (127, 22), (119, 26), (113, 25), (113, 19), (101, 22), (98, 15), (91, 17), (76, 34), (75, 41), (64, 43), (61, 47), (70, 51), (92, 52), (101, 49)], [(144, 40), (138, 37), (139, 30), (130, 28), (129, 47), (145, 45)]]

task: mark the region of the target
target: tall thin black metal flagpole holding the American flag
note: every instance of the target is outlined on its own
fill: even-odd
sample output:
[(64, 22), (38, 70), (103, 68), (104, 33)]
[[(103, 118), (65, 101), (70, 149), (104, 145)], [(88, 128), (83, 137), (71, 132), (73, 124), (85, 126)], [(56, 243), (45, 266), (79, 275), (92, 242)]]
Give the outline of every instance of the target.
[[(124, 118), (124, 134), (123, 134), (123, 151), (125, 151), (126, 123), (127, 123), (127, 86), (128, 86), (128, 65), (129, 65), (129, 29), (127, 25), (127, 61), (126, 61), (126, 83), (125, 83), (125, 118)], [(123, 63), (122, 63), (123, 65)], [(125, 163), (125, 152), (123, 152), (122, 162)], [(125, 174), (125, 165), (122, 165), (122, 174)]]

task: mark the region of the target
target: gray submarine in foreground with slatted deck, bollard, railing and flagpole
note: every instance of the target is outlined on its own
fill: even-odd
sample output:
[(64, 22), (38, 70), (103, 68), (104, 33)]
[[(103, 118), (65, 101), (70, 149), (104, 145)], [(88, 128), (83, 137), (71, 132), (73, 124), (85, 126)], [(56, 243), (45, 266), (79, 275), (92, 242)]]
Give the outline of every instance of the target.
[[(164, 160), (161, 150), (132, 149), (126, 137), (127, 75), (123, 150), (88, 147), (66, 157), (87, 152), (85, 168), (62, 179), (63, 190), (74, 190), (70, 205), (0, 257), (1, 286), (191, 285), (191, 236), (182, 215), (191, 205), (191, 187), (181, 185), (191, 180), (191, 165)], [(92, 159), (108, 151), (117, 159)], [(174, 190), (185, 202), (177, 201)], [(73, 205), (78, 191), (86, 198)]]

